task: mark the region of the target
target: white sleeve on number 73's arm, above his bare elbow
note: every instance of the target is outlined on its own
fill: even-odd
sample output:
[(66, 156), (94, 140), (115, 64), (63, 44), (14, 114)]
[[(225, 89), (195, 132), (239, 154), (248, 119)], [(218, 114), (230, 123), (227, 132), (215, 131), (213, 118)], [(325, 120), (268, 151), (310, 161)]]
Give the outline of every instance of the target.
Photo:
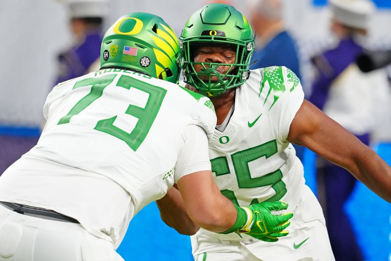
[(174, 180), (202, 170), (211, 170), (208, 139), (205, 131), (195, 125), (188, 125), (183, 134), (184, 146), (175, 164)]

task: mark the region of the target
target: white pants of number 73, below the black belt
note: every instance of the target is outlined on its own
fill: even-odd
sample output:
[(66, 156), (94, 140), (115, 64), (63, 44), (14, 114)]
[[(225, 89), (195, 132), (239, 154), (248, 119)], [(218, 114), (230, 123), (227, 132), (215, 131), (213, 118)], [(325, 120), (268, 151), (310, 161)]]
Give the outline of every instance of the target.
[(80, 224), (18, 214), (0, 205), (0, 261), (124, 261)]

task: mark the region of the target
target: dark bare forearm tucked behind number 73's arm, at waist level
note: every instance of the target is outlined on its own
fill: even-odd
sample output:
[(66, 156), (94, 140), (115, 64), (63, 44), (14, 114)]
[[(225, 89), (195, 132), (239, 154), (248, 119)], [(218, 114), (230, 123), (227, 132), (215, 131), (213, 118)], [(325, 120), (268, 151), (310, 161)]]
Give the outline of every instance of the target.
[(156, 200), (156, 205), (164, 223), (178, 233), (191, 236), (198, 231), (198, 225), (186, 212), (179, 190), (171, 188), (163, 198)]

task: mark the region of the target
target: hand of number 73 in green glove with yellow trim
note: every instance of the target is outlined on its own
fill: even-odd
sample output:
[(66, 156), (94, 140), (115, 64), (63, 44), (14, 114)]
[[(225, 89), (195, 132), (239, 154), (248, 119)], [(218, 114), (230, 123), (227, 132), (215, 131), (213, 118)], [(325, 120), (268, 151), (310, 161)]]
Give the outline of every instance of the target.
[(288, 235), (284, 229), (290, 225), (289, 219), (292, 213), (272, 214), (272, 211), (286, 210), (288, 204), (285, 202), (261, 202), (243, 207), (247, 214), (250, 214), (249, 222), (238, 232), (245, 233), (257, 239), (275, 242), (279, 237)]

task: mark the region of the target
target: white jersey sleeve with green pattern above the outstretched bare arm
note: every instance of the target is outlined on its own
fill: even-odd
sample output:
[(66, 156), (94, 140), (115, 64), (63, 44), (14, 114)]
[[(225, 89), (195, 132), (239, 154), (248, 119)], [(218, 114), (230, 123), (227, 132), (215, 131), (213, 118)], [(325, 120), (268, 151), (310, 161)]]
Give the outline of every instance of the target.
[(286, 90), (281, 105), (282, 115), (279, 126), (279, 139), (284, 142), (288, 138), (290, 124), (303, 104), (304, 92), (299, 78), (293, 71), (286, 67), (282, 67), (282, 71)]

